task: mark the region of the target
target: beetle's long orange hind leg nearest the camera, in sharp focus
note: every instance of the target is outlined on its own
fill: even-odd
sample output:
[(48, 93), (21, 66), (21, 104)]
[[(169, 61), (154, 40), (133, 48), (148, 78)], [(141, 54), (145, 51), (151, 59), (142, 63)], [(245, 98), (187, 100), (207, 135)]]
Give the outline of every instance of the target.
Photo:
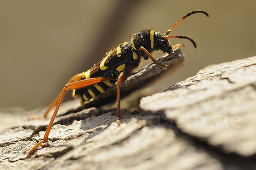
[(49, 136), (49, 133), (50, 133), (50, 130), (52, 128), (52, 124), (53, 124), (53, 121), (55, 119), (55, 116), (58, 112), (58, 109), (61, 105), (61, 101), (63, 99), (63, 96), (65, 94), (65, 92), (69, 89), (79, 89), (81, 87), (84, 87), (84, 86), (89, 86), (91, 84), (95, 84), (95, 83), (99, 83), (101, 81), (108, 81), (108, 80), (116, 80), (114, 78), (90, 78), (90, 79), (85, 79), (85, 80), (80, 80), (80, 81), (76, 81), (76, 82), (73, 82), (73, 83), (69, 83), (69, 84), (66, 84), (66, 86), (64, 86), (64, 88), (62, 89), (61, 91), (61, 94), (59, 95), (59, 98), (58, 98), (58, 102), (57, 102), (57, 107), (52, 115), (52, 119), (45, 131), (45, 134), (44, 134), (44, 139), (42, 141), (40, 141), (38, 144), (36, 144), (34, 147), (32, 147), (31, 150), (29, 150), (29, 153), (27, 155), (27, 157), (29, 157), (29, 155), (39, 146), (41, 145), (44, 141), (47, 141), (48, 140), (48, 136)]

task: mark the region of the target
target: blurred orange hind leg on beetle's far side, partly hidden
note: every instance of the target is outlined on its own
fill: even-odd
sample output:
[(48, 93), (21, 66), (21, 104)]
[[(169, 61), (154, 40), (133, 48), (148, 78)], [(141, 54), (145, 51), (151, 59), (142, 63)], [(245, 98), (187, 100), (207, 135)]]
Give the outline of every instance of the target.
[[(74, 75), (72, 78), (70, 78), (70, 80), (67, 82), (67, 84), (70, 84), (72, 82), (75, 81), (79, 81), (81, 77), (84, 76), (84, 72), (81, 72), (77, 75)], [(30, 119), (42, 119), (42, 118), (46, 118), (46, 116), (48, 115), (49, 111), (52, 109), (52, 107), (54, 107), (57, 103), (58, 103), (58, 99), (60, 98), (61, 93), (54, 99), (54, 101), (52, 101), (52, 103), (50, 104), (50, 106), (48, 107), (48, 109), (46, 110), (46, 112), (44, 112), (44, 116), (31, 116)]]

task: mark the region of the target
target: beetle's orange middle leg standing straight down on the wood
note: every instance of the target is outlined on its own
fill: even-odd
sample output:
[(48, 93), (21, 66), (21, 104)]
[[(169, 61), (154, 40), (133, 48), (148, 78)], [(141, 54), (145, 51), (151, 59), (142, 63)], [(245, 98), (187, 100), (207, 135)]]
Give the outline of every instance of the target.
[(117, 118), (116, 118), (116, 124), (120, 125), (120, 115), (121, 115), (121, 109), (120, 109), (120, 88), (119, 88), (119, 84), (121, 84), (125, 78), (128, 77), (129, 73), (133, 70), (137, 68), (137, 66), (135, 67), (131, 67), (129, 69), (124, 70), (123, 72), (121, 72), (121, 74), (118, 77), (117, 80), (117, 97), (116, 97), (116, 114), (117, 114)]

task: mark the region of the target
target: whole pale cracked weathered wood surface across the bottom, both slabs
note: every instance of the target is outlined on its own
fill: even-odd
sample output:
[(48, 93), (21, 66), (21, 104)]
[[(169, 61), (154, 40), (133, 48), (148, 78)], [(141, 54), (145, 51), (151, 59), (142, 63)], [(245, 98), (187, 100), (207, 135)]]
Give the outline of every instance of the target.
[(256, 57), (208, 66), (142, 98), (141, 110), (122, 109), (120, 126), (115, 109), (77, 107), (61, 105), (31, 158), (49, 118), (25, 116), (44, 109), (1, 111), (0, 169), (256, 169)]

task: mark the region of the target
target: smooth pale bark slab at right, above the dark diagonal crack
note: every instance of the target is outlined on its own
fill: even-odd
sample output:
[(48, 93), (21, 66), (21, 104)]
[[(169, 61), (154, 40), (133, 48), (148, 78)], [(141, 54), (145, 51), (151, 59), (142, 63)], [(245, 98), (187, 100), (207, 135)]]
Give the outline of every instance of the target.
[(226, 153), (256, 154), (256, 57), (208, 66), (166, 92), (141, 100), (183, 132)]

